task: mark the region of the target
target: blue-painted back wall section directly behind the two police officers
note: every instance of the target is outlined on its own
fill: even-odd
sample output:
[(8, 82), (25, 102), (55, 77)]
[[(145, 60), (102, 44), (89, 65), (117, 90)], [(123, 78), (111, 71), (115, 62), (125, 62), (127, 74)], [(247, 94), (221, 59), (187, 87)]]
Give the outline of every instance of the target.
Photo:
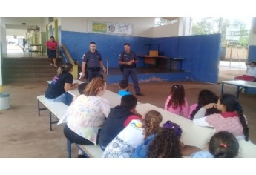
[[(119, 67), (118, 57), (124, 50), (123, 44), (131, 44), (131, 50), (137, 55), (148, 54), (148, 46), (151, 38), (134, 36), (114, 36), (96, 33), (79, 33), (62, 31), (62, 44), (68, 47), (68, 51), (74, 61), (78, 60), (82, 64), (82, 55), (89, 50), (89, 43), (96, 42), (97, 50), (102, 54), (103, 62), (106, 66), (106, 59), (109, 60), (109, 67)], [(143, 60), (139, 59), (138, 67), (142, 67)]]

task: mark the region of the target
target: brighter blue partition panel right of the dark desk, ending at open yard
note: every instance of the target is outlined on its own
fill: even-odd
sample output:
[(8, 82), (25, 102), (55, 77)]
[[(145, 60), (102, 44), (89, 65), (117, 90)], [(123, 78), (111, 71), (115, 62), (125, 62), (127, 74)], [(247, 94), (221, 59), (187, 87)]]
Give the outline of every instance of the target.
[(183, 69), (190, 70), (195, 81), (217, 83), (220, 42), (220, 34), (179, 37), (178, 55), (186, 58)]

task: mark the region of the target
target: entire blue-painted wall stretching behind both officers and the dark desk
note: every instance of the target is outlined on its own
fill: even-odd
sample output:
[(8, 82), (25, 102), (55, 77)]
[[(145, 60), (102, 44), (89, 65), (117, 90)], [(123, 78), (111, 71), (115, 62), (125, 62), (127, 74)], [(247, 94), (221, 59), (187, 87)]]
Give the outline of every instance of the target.
[[(149, 48), (151, 50), (157, 50), (159, 48), (160, 56), (185, 58), (182, 68), (186, 73), (174, 73), (171, 75), (152, 73), (151, 76), (160, 77), (164, 81), (184, 81), (191, 79), (199, 82), (217, 83), (218, 80), (220, 34), (153, 39), (138, 36), (114, 36), (62, 31), (61, 39), (62, 44), (68, 47), (68, 51), (74, 61), (79, 61), (80, 64), (82, 64), (82, 55), (89, 50), (88, 44), (90, 42), (96, 42), (97, 50), (102, 54), (104, 64), (106, 65), (106, 59), (108, 59), (109, 67), (119, 67), (119, 53), (124, 50), (123, 44), (128, 42), (131, 44), (131, 50), (134, 50), (137, 55), (148, 55)], [(144, 59), (139, 58), (137, 67), (142, 67), (143, 61)], [(145, 79), (150, 79), (149, 76), (138, 76), (138, 78), (140, 81), (144, 81)], [(120, 77), (113, 78), (109, 81), (114, 83), (116, 79), (120, 79)]]

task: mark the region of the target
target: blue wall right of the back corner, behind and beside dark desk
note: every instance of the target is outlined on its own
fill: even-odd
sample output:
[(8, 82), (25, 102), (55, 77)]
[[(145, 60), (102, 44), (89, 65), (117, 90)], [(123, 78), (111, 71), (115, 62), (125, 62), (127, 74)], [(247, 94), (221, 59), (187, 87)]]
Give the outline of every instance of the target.
[(220, 34), (179, 36), (153, 39), (160, 44), (163, 56), (183, 57), (183, 70), (191, 72), (191, 79), (217, 83), (220, 60)]

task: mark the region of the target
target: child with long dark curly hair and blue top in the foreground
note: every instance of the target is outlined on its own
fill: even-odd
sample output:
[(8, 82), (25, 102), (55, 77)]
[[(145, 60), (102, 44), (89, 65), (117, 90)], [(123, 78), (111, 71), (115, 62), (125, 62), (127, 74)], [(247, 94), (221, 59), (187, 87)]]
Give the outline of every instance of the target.
[(135, 148), (134, 158), (180, 158), (191, 156), (200, 148), (184, 145), (180, 142), (183, 130), (171, 121), (165, 122), (160, 132), (152, 134), (145, 142)]

